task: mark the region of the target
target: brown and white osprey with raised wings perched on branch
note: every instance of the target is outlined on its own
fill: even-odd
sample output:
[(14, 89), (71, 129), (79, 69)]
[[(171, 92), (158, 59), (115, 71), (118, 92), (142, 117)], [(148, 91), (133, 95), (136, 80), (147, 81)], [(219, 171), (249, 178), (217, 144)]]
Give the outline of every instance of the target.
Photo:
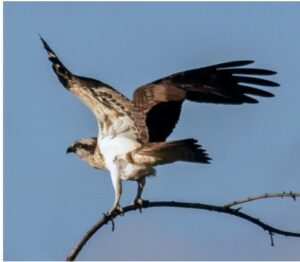
[[(154, 175), (153, 166), (180, 160), (209, 162), (210, 158), (194, 139), (165, 142), (179, 119), (185, 100), (217, 104), (258, 103), (251, 96), (272, 97), (273, 94), (251, 85), (278, 86), (270, 80), (251, 76), (273, 75), (276, 74), (274, 71), (241, 67), (253, 61), (233, 61), (156, 80), (137, 88), (130, 100), (108, 84), (72, 74), (45, 40), (41, 40), (60, 82), (97, 119), (97, 139), (81, 141), (82, 148), (95, 149), (94, 159), (88, 160), (84, 150), (79, 156), (110, 172), (115, 201), (109, 214), (122, 211), (119, 205), (122, 180), (138, 182), (135, 202), (142, 203), (145, 177)], [(75, 149), (73, 145), (68, 151)]]

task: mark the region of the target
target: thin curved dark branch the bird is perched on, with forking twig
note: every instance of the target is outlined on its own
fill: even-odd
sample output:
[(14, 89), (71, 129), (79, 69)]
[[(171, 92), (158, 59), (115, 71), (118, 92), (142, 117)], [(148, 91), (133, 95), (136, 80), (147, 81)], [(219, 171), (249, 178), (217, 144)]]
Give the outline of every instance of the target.
[[(285, 193), (283, 193), (285, 194)], [(289, 193), (291, 194), (291, 192)], [(269, 194), (271, 195), (271, 197), (275, 197), (274, 194)], [(277, 194), (278, 195), (278, 194)], [(291, 197), (296, 197), (299, 196), (300, 194), (298, 193), (293, 193), (293, 196)], [(285, 197), (285, 195), (284, 195)], [(256, 197), (255, 199), (253, 199), (255, 197), (252, 197), (250, 201), (254, 201), (256, 199), (261, 199), (261, 198), (269, 198), (266, 197), (266, 194), (264, 195), (264, 197)], [(249, 201), (245, 201), (245, 202), (249, 202)], [(79, 252), (81, 251), (81, 249), (83, 248), (83, 246), (86, 244), (86, 242), (105, 224), (107, 224), (108, 222), (112, 222), (112, 230), (114, 230), (114, 220), (116, 217), (123, 215), (127, 212), (130, 211), (135, 211), (135, 210), (139, 210), (141, 208), (151, 208), (151, 207), (179, 207), (179, 208), (192, 208), (192, 209), (202, 209), (202, 210), (209, 210), (209, 211), (215, 211), (215, 212), (220, 212), (220, 213), (225, 213), (225, 214), (229, 214), (229, 215), (233, 215), (233, 216), (237, 216), (240, 217), (242, 219), (248, 220), (249, 222), (261, 227), (262, 229), (266, 230), (270, 236), (271, 236), (271, 244), (274, 245), (273, 242), (273, 235), (278, 234), (278, 235), (283, 235), (283, 236), (287, 236), (287, 237), (300, 237), (300, 233), (295, 233), (295, 232), (289, 232), (289, 231), (284, 231), (275, 227), (272, 227), (266, 223), (261, 222), (259, 219), (249, 216), (246, 213), (240, 212), (240, 208), (238, 209), (234, 209), (231, 208), (228, 205), (225, 206), (215, 206), (215, 205), (208, 205), (208, 204), (201, 204), (201, 203), (186, 203), (186, 202), (175, 202), (175, 201), (157, 201), (157, 202), (148, 202), (148, 201), (144, 201), (142, 206), (137, 206), (137, 205), (130, 205), (130, 206), (126, 206), (123, 208), (123, 213), (120, 212), (116, 212), (111, 216), (107, 216), (107, 215), (103, 215), (100, 220), (88, 231), (86, 232), (86, 234), (80, 239), (80, 241), (77, 243), (77, 245), (73, 248), (73, 250), (71, 251), (71, 253), (68, 255), (68, 257), (66, 258), (66, 261), (73, 261), (76, 259), (77, 255), (79, 254)]]

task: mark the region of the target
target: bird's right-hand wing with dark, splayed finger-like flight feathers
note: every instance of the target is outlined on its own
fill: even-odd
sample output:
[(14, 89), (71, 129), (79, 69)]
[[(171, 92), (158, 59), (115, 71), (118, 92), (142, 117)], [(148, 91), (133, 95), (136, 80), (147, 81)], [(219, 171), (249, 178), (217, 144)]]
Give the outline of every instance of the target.
[[(253, 61), (234, 61), (176, 73), (135, 90), (135, 106), (145, 112), (150, 142), (165, 141), (174, 129), (184, 100), (216, 104), (258, 103), (251, 96), (272, 97), (255, 86), (278, 86), (256, 76), (274, 71), (241, 68)], [(250, 96), (249, 96), (250, 95)]]

